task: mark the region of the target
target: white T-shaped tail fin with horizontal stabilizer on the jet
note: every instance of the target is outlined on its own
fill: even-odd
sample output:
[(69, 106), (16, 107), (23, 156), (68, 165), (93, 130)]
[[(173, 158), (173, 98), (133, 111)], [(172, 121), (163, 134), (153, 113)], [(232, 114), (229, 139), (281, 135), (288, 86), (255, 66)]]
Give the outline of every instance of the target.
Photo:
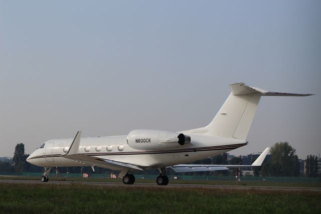
[(309, 96), (313, 94), (270, 92), (242, 82), (230, 84), (231, 94), (206, 127), (205, 135), (246, 140), (261, 96)]

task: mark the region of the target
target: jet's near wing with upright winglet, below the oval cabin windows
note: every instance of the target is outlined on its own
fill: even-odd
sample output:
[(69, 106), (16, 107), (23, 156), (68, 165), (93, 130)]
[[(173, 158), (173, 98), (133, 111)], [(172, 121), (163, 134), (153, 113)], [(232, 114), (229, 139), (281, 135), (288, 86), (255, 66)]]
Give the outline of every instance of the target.
[(68, 152), (66, 154), (61, 155), (61, 157), (68, 158), (79, 163), (84, 163), (86, 165), (99, 166), (102, 168), (108, 168), (113, 170), (123, 170), (126, 168), (144, 170), (140, 166), (136, 166), (129, 163), (123, 163), (123, 162), (98, 158), (94, 156), (79, 154), (78, 152), (79, 152), (79, 145), (80, 145), (80, 135), (81, 135), (81, 132), (78, 131)]

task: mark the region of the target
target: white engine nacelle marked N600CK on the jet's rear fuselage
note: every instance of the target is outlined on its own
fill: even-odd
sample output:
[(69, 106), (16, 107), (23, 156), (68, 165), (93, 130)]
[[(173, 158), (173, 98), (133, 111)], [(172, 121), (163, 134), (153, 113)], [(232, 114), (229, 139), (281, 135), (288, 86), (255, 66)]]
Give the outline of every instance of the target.
[(133, 149), (175, 149), (191, 143), (191, 137), (182, 133), (139, 129), (129, 132), (127, 143)]

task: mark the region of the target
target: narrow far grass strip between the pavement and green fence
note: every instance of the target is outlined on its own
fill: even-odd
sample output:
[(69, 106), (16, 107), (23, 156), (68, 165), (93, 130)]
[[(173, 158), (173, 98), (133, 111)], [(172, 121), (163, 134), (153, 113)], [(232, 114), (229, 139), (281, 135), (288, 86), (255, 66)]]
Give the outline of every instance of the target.
[[(40, 180), (40, 177), (26, 177), (26, 176), (0, 176), (0, 179), (15, 179), (15, 180)], [(94, 181), (94, 182), (122, 182), (120, 178), (82, 178), (82, 177), (50, 177), (50, 181), (57, 181), (58, 179), (65, 179), (67, 181)], [(156, 183), (156, 179), (136, 179), (137, 183)], [(227, 180), (170, 180), (170, 183), (183, 184), (208, 184), (208, 185), (236, 185), (236, 181)], [(248, 186), (287, 186), (287, 187), (321, 187), (321, 182), (271, 182), (271, 181), (240, 181), (238, 185)]]

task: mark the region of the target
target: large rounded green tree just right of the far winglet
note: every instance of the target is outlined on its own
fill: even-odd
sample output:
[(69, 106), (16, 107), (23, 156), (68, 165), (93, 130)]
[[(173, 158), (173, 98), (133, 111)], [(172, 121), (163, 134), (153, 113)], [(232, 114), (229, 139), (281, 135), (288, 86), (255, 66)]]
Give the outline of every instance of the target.
[(295, 149), (287, 142), (274, 144), (270, 150), (271, 160), (261, 169), (263, 176), (298, 176), (299, 162)]

